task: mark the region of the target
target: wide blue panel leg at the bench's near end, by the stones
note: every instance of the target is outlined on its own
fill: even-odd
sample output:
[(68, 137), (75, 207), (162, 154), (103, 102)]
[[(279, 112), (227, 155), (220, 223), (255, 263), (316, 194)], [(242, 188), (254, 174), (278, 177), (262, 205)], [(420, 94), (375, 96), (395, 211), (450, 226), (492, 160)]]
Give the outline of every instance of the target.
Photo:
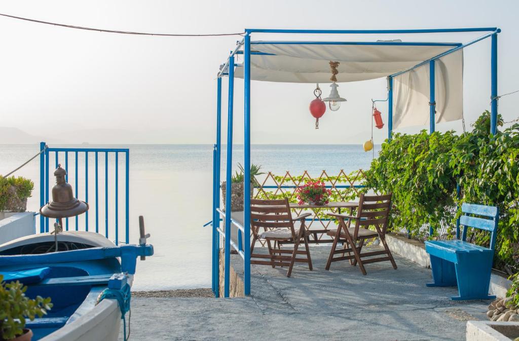
[(492, 254), (459, 255), (456, 264), (456, 277), (458, 280), (459, 296), (453, 296), (455, 301), (468, 299), (495, 299), (496, 296), (488, 295), (490, 274), (492, 268)]

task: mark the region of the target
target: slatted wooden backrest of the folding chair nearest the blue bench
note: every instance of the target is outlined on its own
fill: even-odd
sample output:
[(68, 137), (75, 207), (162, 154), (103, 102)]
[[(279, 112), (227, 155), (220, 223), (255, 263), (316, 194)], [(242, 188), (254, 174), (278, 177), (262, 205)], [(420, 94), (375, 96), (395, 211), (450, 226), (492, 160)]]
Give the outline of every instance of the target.
[(376, 225), (382, 234), (386, 233), (392, 193), (386, 195), (360, 195), (357, 222), (353, 239), (357, 238), (359, 227), (368, 228)]

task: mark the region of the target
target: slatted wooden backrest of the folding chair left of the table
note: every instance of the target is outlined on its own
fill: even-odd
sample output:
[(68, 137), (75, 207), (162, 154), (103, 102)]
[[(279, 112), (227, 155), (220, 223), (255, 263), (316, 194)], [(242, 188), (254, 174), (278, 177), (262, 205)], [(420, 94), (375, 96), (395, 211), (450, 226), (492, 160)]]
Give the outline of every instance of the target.
[(289, 199), (251, 199), (251, 227), (256, 237), (261, 233), (260, 227), (265, 229), (288, 227), (292, 231), (292, 237), (295, 238)]

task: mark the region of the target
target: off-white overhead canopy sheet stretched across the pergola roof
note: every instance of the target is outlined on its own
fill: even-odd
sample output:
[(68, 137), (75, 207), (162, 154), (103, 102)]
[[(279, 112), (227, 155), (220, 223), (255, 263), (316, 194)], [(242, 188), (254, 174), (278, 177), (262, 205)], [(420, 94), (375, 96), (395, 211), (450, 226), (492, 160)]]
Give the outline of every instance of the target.
[[(375, 79), (407, 70), (458, 45), (368, 44), (371, 43), (252, 42), (251, 50), (264, 54), (251, 55), (251, 79), (283, 83), (332, 83), (330, 61), (340, 62), (337, 68), (338, 83)], [(235, 77), (243, 78), (243, 67), (236, 68)]]

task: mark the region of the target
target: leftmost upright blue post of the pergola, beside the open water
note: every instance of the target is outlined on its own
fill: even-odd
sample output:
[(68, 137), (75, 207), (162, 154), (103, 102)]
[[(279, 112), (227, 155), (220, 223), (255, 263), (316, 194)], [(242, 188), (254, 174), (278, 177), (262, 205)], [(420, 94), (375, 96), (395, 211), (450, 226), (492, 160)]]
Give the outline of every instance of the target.
[[(222, 155), (222, 77), (217, 80), (217, 98), (216, 98), (216, 163), (215, 163), (215, 208), (220, 208), (220, 162)], [(213, 221), (213, 229), (215, 233), (215, 288), (214, 297), (220, 297), (220, 234), (217, 229), (220, 228), (220, 213), (215, 212), (216, 220)]]

